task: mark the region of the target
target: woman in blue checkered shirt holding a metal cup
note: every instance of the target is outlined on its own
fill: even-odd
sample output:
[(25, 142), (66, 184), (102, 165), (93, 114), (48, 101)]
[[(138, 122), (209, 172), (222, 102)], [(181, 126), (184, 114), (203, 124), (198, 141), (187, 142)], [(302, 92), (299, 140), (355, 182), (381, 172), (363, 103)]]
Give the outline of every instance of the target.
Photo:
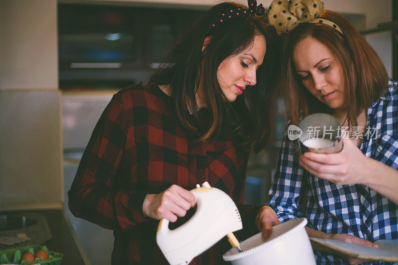
[[(270, 201), (257, 216), (263, 237), (279, 222), (306, 217), (309, 237), (371, 247), (398, 240), (398, 83), (352, 24), (323, 10), (321, 0), (274, 0), (269, 20), (287, 34), (280, 89), (290, 123), (329, 113), (345, 134), (339, 153), (301, 156), (285, 136)], [(314, 253), (318, 264), (365, 262)]]

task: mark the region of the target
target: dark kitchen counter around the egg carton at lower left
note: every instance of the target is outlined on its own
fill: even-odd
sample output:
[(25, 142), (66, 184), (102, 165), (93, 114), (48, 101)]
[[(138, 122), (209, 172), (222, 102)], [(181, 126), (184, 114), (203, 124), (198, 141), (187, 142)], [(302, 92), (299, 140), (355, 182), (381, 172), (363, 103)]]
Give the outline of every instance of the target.
[[(70, 265), (70, 264), (85, 265), (84, 258), (78, 248), (78, 245), (80, 243), (75, 241), (73, 236), (75, 232), (71, 231), (72, 228), (69, 225), (68, 221), (65, 219), (62, 210), (6, 211), (6, 212), (0, 212), (0, 215), (10, 214), (10, 213), (23, 213), (23, 212), (41, 214), (47, 219), (47, 223), (51, 231), (52, 238), (41, 245), (47, 246), (47, 248), (50, 251), (62, 253), (64, 255), (61, 263), (62, 265)], [(22, 243), (18, 245), (18, 247), (19, 246), (24, 246), (24, 245)], [(12, 249), (12, 248), (15, 248), (15, 246), (7, 247), (7, 249)]]

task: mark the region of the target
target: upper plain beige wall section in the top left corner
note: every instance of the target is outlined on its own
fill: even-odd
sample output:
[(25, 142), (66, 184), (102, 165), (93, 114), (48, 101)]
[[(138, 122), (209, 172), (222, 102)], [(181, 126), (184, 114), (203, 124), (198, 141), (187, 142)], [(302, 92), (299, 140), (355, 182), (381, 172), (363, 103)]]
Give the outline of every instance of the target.
[(0, 7), (0, 89), (57, 89), (57, 1), (1, 0)]

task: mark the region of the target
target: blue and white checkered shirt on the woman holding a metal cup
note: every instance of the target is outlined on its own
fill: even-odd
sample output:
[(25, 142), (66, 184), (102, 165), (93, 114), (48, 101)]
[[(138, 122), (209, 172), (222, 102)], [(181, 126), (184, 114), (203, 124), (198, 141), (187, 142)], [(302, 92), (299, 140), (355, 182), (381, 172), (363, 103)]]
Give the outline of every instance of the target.
[[(374, 139), (365, 136), (360, 146), (365, 156), (396, 170), (397, 88), (398, 82), (390, 79), (388, 89), (368, 108), (367, 127), (378, 128), (380, 137)], [(365, 185), (336, 185), (310, 174), (298, 164), (299, 154), (296, 150), (297, 141), (292, 142), (285, 135), (267, 204), (275, 210), (281, 223), (305, 216), (309, 227), (328, 234), (349, 234), (372, 242), (379, 239), (398, 240), (397, 204)], [(307, 201), (304, 215), (301, 203), (305, 191)], [(314, 253), (317, 264), (344, 264), (331, 254), (320, 251)]]

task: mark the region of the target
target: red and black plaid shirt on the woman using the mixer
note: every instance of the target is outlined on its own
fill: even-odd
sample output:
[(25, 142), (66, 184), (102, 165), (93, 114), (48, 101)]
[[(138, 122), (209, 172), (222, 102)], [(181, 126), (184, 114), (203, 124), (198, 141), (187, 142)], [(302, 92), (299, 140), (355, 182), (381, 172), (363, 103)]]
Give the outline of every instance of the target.
[[(112, 264), (168, 264), (156, 244), (159, 220), (142, 213), (146, 194), (172, 184), (190, 190), (208, 181), (238, 205), (247, 231), (235, 234), (244, 240), (257, 232), (259, 210), (242, 205), (248, 158), (249, 152), (236, 148), (225, 132), (211, 143), (194, 143), (158, 86), (124, 88), (93, 131), (68, 192), (69, 208), (76, 217), (114, 231)], [(230, 248), (225, 242), (191, 264), (222, 263)]]

